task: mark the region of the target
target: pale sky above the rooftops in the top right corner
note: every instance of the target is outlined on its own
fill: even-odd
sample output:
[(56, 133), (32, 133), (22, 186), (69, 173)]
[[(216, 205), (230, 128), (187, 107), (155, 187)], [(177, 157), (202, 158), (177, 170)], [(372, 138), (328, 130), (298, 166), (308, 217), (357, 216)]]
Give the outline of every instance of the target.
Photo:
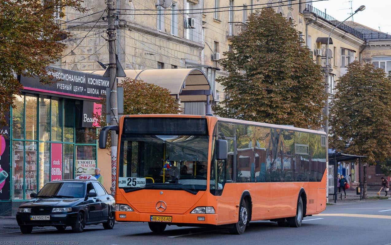
[[(365, 5), (363, 11), (357, 12), (353, 20), (375, 30), (391, 34), (391, 0), (324, 0), (313, 2), (312, 5), (333, 18), (343, 21), (351, 12), (354, 13), (361, 5)], [(351, 8), (352, 5), (352, 9)], [(350, 18), (349, 20), (352, 20)]]

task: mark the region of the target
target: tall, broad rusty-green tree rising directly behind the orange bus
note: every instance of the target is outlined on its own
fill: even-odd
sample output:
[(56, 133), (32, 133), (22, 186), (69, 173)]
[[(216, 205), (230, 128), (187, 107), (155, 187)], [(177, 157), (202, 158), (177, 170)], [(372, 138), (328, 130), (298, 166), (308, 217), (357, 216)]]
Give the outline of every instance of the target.
[(325, 105), (320, 66), (292, 23), (271, 8), (251, 14), (231, 39), (216, 81), (230, 94), (212, 108), (222, 117), (318, 129)]

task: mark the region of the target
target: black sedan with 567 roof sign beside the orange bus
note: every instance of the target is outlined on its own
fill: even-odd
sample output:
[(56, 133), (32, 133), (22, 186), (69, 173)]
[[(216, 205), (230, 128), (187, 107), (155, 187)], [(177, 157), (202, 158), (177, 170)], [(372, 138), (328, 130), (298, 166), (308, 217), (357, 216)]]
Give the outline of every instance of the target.
[(63, 231), (83, 232), (85, 225), (114, 227), (114, 197), (96, 180), (70, 179), (47, 183), (33, 199), (19, 206), (16, 220), (22, 233), (34, 226), (54, 226)]

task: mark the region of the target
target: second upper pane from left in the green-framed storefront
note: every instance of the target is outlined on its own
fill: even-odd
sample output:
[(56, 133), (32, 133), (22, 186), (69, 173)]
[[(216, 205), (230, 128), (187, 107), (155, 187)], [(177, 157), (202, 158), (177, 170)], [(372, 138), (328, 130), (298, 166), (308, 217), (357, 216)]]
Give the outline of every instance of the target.
[(37, 97), (26, 95), (26, 140), (37, 140)]

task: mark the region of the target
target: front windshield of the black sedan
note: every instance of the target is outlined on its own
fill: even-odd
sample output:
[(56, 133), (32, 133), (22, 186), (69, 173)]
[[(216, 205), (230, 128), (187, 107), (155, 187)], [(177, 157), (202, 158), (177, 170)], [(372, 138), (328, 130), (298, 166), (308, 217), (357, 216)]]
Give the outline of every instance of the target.
[(38, 192), (37, 197), (48, 198), (83, 198), (85, 196), (84, 183), (52, 182), (47, 183)]

